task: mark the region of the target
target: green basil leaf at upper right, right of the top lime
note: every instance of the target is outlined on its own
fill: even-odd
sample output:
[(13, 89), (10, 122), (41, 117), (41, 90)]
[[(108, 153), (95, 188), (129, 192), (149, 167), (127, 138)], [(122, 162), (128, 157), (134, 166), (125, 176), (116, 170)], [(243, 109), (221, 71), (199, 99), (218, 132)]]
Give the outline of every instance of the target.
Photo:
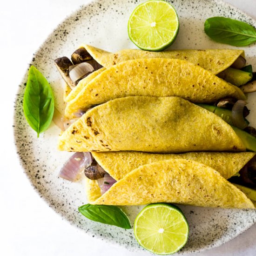
[(216, 42), (233, 46), (247, 46), (256, 42), (256, 29), (251, 25), (224, 17), (205, 21), (204, 32)]

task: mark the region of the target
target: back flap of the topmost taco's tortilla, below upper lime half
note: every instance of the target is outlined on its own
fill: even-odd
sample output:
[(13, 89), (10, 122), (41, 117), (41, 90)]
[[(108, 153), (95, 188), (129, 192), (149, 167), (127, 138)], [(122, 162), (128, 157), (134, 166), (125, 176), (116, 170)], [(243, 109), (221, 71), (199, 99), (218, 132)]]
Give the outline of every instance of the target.
[(218, 74), (230, 67), (242, 55), (243, 50), (207, 49), (207, 50), (170, 50), (162, 52), (148, 52), (136, 49), (124, 49), (110, 53), (102, 49), (83, 44), (88, 53), (103, 67), (109, 68), (122, 61), (148, 58), (179, 59), (189, 61), (213, 74)]

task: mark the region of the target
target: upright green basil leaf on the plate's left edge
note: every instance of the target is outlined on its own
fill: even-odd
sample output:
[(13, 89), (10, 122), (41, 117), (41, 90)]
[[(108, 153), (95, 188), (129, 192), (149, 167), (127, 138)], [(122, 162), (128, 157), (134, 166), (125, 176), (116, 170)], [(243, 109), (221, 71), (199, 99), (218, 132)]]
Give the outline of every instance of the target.
[(23, 112), (28, 124), (37, 132), (37, 137), (49, 127), (54, 115), (52, 88), (34, 66), (28, 71)]

